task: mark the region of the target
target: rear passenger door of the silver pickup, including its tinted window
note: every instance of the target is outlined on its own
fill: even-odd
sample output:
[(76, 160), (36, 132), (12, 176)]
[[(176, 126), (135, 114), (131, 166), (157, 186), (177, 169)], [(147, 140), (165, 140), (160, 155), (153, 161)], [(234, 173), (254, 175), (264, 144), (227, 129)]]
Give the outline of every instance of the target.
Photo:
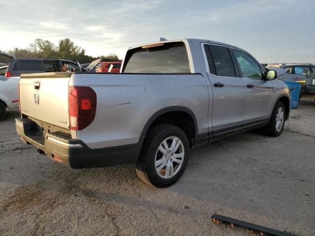
[(246, 89), (238, 77), (228, 47), (204, 44), (208, 79), (213, 91), (212, 123), (214, 139), (242, 129), (245, 120)]

